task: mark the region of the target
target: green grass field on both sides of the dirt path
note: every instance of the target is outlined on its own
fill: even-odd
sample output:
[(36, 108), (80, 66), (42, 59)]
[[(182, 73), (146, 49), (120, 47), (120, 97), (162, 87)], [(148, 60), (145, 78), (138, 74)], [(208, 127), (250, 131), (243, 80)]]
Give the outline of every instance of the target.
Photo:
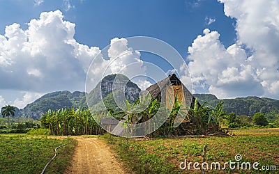
[[(219, 162), (221, 168), (225, 162), (236, 162), (236, 155), (242, 156), (239, 164), (257, 162), (259, 169), (263, 166), (276, 168), (263, 171), (254, 170), (252, 166), (251, 170), (226, 166), (225, 170), (208, 170), (206, 173), (279, 173), (279, 129), (241, 129), (230, 133), (234, 136), (128, 139), (128, 143), (127, 139), (116, 136), (100, 137), (119, 154), (119, 160), (123, 161), (128, 173), (201, 173), (193, 164), (202, 164), (204, 145), (207, 145), (206, 163), (209, 169), (212, 162)], [(62, 144), (66, 145), (59, 148), (56, 159), (45, 173), (63, 173), (73, 158), (76, 140), (66, 136), (0, 134), (0, 173), (41, 173), (53, 157), (54, 148)], [(181, 163), (183, 166), (185, 160), (186, 168), (181, 170), (179, 166)], [(193, 164), (189, 169), (190, 162)]]

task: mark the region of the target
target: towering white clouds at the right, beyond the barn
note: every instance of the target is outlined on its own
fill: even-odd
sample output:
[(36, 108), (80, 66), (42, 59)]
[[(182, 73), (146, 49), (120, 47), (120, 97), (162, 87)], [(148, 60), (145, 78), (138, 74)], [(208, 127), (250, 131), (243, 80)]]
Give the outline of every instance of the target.
[[(258, 95), (278, 99), (278, 1), (219, 1), (224, 3), (225, 15), (236, 19), (237, 40), (225, 48), (217, 31), (204, 29), (204, 35), (188, 47), (195, 92), (220, 98)], [(206, 21), (209, 24), (210, 18)]]

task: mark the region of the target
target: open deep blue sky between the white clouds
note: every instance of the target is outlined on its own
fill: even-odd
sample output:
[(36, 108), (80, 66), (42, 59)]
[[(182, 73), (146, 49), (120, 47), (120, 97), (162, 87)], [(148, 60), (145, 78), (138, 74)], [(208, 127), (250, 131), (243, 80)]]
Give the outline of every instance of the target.
[[(196, 4), (197, 3), (197, 4)], [(194, 1), (1, 1), (0, 33), (7, 25), (18, 23), (27, 29), (30, 19), (40, 13), (61, 10), (64, 19), (76, 24), (75, 39), (103, 48), (112, 38), (146, 35), (160, 38), (187, 56), (187, 47), (205, 28), (219, 31), (225, 47), (236, 40), (235, 19), (225, 16), (223, 4), (215, 0)], [(217, 19), (208, 25), (209, 19)]]

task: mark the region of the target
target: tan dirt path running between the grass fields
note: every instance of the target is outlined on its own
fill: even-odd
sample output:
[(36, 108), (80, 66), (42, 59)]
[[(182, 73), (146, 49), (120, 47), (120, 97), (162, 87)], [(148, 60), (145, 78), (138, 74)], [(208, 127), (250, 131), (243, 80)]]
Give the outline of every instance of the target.
[(124, 173), (123, 166), (103, 140), (78, 138), (72, 166), (68, 173)]

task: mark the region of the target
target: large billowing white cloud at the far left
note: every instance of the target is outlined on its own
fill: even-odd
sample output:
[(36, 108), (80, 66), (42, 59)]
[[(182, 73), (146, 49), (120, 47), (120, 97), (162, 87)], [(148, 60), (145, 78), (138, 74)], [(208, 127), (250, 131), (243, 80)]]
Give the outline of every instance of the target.
[(0, 35), (1, 89), (43, 93), (83, 90), (86, 71), (100, 49), (78, 43), (75, 24), (60, 10), (41, 13), (28, 29), (6, 26)]

